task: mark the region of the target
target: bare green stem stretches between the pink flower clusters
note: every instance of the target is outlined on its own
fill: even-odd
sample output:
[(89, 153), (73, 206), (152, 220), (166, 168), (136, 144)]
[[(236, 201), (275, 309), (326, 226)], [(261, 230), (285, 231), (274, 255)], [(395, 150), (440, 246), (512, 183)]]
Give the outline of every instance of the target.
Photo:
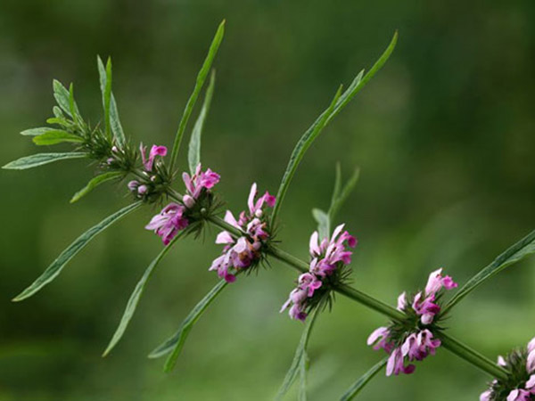
[[(228, 231), (229, 233), (232, 233), (235, 236), (239, 237), (243, 235), (243, 233), (241, 233), (232, 225), (227, 224), (226, 221), (220, 217), (208, 217), (208, 220), (213, 225), (218, 225), (218, 227)], [(308, 263), (300, 260), (300, 258), (294, 257), (284, 250), (276, 248), (273, 245), (270, 245), (266, 252), (272, 257), (284, 262), (284, 264), (292, 266), (301, 273), (306, 273), (309, 271)], [(333, 290), (341, 293), (349, 299), (357, 301), (365, 307), (369, 307), (370, 309), (373, 309), (374, 311), (391, 318), (393, 321), (402, 322), (404, 319), (403, 313), (399, 312), (398, 309), (385, 304), (379, 299), (374, 299), (374, 297), (371, 297), (362, 291), (358, 291), (349, 285), (339, 284), (334, 286)], [(469, 348), (459, 340), (450, 337), (444, 332), (440, 333), (440, 340), (444, 348), (449, 349), (450, 352), (465, 359), (466, 362), (480, 368), (481, 371), (486, 372), (490, 374), (490, 376), (498, 379), (506, 379), (507, 371), (503, 367), (498, 366), (498, 364), (495, 364), (489, 358), (482, 356), (479, 352)]]

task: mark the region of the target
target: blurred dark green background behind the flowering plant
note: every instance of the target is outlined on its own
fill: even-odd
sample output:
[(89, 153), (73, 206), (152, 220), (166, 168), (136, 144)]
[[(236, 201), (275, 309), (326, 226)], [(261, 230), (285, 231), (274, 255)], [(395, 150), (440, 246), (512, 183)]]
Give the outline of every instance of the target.
[[(18, 133), (51, 115), (53, 78), (73, 81), (82, 113), (101, 118), (96, 54), (113, 58), (128, 135), (170, 145), (223, 18), (202, 160), (223, 176), (218, 190), (234, 210), (253, 181), (276, 192), (301, 133), (399, 29), (391, 61), (301, 164), (281, 215), (285, 250), (307, 258), (310, 209), (327, 206), (336, 161), (346, 176), (362, 168), (340, 215), (360, 241), (354, 282), (385, 301), (424, 286), (439, 266), (465, 282), (533, 228), (532, 0), (3, 0), (0, 164), (37, 151)], [(279, 263), (223, 293), (175, 372), (145, 357), (217, 282), (207, 271), (219, 252), (213, 230), (164, 260), (106, 359), (130, 292), (161, 250), (143, 229), (153, 210), (103, 233), (36, 297), (10, 302), (79, 233), (127, 204), (108, 185), (70, 205), (92, 174), (83, 161), (0, 174), (0, 400), (271, 399), (302, 327), (277, 313), (296, 278)], [(533, 259), (506, 270), (457, 307), (450, 333), (491, 358), (525, 344), (535, 335), (534, 284)], [(382, 357), (365, 341), (385, 322), (341, 297), (321, 315), (310, 399), (337, 399)], [(359, 397), (473, 400), (489, 379), (443, 350), (411, 376), (380, 374)]]

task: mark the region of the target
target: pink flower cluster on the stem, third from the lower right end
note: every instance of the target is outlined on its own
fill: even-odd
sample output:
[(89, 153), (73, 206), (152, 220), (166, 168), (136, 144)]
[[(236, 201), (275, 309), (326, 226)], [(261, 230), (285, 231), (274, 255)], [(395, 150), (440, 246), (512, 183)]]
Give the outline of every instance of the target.
[(283, 312), (291, 306), (288, 314), (292, 319), (304, 322), (309, 299), (314, 296), (314, 291), (323, 285), (322, 279), (351, 263), (353, 252), (347, 250), (346, 245), (355, 248), (357, 240), (347, 231), (342, 233), (343, 226), (339, 225), (334, 229), (331, 239), (327, 237), (320, 242), (317, 231), (310, 236), (309, 250), (312, 260), (309, 273), (299, 276), (297, 287), (290, 292), (290, 297), (281, 308)]

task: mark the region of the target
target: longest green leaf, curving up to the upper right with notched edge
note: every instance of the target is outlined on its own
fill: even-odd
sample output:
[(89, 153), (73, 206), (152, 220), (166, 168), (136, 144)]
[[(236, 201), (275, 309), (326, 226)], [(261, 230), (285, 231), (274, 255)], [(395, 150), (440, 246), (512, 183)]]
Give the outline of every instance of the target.
[[(351, 83), (350, 87), (348, 87), (348, 89), (340, 96), (335, 105), (333, 107), (331, 105), (327, 110), (320, 114), (314, 124), (312, 124), (312, 126), (309, 127), (307, 132), (305, 132), (305, 134), (301, 136), (299, 143), (297, 143), (295, 149), (292, 152), (292, 156), (290, 157), (290, 161), (288, 162), (288, 167), (284, 172), (283, 180), (279, 187), (279, 191), (277, 192), (276, 205), (273, 209), (272, 214), (273, 220), (275, 220), (278, 215), (282, 202), (284, 201), (284, 195), (286, 194), (288, 186), (290, 185), (290, 182), (292, 180), (292, 176), (295, 173), (295, 170), (297, 169), (300, 160), (303, 158), (305, 151), (307, 151), (312, 141), (316, 138), (317, 134), (319, 134), (319, 132), (321, 132), (321, 130), (333, 119), (333, 117), (335, 117), (351, 101), (351, 99), (353, 99), (353, 97), (358, 94), (358, 92), (366, 85), (366, 83), (374, 77), (377, 71), (381, 70), (384, 63), (391, 56), (391, 53), (394, 50), (397, 41), (398, 32), (394, 34), (390, 45), (388, 45), (379, 60), (375, 61), (374, 66), (371, 70), (368, 71), (366, 76), (364, 76), (363, 78), (364, 70), (360, 71), (357, 77), (353, 79), (353, 82)], [(312, 135), (312, 133), (314, 133), (315, 131), (317, 131), (317, 134)], [(306, 138), (309, 138), (309, 141), (307, 141)]]

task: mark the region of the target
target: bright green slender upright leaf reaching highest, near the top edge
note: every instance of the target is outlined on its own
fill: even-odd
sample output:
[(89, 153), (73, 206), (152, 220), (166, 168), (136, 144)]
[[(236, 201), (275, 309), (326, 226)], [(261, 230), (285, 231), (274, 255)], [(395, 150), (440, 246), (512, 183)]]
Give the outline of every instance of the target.
[(219, 45), (221, 45), (221, 41), (223, 40), (224, 35), (225, 35), (225, 20), (223, 20), (219, 24), (218, 31), (216, 32), (216, 35), (213, 38), (212, 43), (210, 45), (208, 55), (206, 56), (206, 59), (202, 63), (202, 68), (199, 71), (199, 74), (197, 75), (197, 80), (195, 82), (195, 87), (193, 88), (193, 93), (190, 95), (190, 98), (185, 104), (184, 113), (182, 115), (182, 119), (180, 119), (180, 123), (178, 124), (177, 135), (175, 136), (175, 142), (173, 143), (173, 150), (171, 151), (171, 161), (169, 165), (169, 170), (173, 169), (173, 166), (175, 165), (175, 162), (177, 161), (178, 150), (180, 148), (182, 136), (184, 135), (184, 132), (185, 132), (187, 121), (189, 120), (192, 114), (193, 106), (195, 105), (195, 102), (197, 102), (197, 98), (199, 97), (199, 94), (201, 93), (202, 86), (204, 85), (204, 81), (206, 81), (206, 77), (208, 76), (208, 72), (210, 71), (212, 62), (214, 61), (214, 58), (216, 57), (216, 54), (218, 53)]

